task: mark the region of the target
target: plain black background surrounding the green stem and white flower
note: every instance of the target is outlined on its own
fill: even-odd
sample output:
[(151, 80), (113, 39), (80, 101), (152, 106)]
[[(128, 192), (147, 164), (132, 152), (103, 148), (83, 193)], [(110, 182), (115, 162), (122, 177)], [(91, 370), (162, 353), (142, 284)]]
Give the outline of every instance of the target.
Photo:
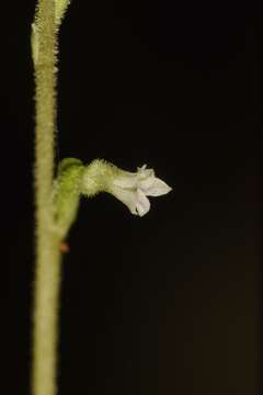
[[(1, 5), (2, 385), (20, 395), (34, 271), (33, 13), (32, 0)], [(148, 163), (173, 191), (144, 218), (110, 195), (81, 202), (64, 262), (59, 395), (260, 393), (262, 25), (249, 1), (72, 1), (58, 158)]]

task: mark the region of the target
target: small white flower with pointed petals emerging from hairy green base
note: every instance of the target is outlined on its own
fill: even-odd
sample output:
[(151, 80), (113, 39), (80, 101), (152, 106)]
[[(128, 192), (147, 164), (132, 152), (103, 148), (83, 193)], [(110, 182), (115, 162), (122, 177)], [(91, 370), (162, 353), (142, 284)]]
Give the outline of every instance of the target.
[(136, 173), (119, 171), (108, 185), (108, 192), (126, 204), (130, 213), (139, 216), (150, 210), (147, 196), (160, 196), (171, 190), (172, 188), (156, 178), (153, 169), (147, 169), (146, 165), (138, 168)]

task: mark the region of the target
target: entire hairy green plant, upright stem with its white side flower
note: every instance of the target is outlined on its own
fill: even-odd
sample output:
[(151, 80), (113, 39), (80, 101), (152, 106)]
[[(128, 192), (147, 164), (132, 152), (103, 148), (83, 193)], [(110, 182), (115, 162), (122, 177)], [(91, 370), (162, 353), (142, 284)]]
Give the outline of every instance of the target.
[(61, 253), (64, 240), (77, 218), (81, 195), (107, 192), (123, 202), (132, 214), (150, 210), (148, 196), (160, 196), (171, 188), (146, 165), (136, 172), (118, 169), (95, 159), (84, 166), (75, 158), (64, 159), (54, 180), (57, 116), (58, 34), (70, 0), (37, 0), (32, 23), (32, 58), (35, 70), (35, 202), (36, 269), (32, 394), (57, 394), (57, 343)]

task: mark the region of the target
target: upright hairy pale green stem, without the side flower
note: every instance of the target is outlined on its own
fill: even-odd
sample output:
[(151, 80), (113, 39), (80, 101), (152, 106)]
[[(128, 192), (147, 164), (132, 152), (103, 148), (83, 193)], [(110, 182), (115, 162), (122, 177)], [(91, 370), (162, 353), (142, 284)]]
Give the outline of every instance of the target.
[(52, 189), (56, 124), (55, 1), (39, 0), (35, 23), (35, 200), (36, 269), (34, 283), (33, 395), (56, 394), (57, 316), (61, 257), (52, 233)]

